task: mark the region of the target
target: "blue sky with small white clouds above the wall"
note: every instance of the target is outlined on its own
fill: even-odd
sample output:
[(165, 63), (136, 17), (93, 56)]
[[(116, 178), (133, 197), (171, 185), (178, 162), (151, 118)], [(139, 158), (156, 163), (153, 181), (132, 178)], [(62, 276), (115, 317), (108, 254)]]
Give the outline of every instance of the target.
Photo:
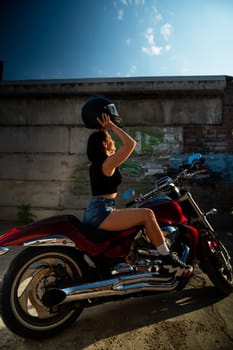
[(4, 80), (233, 76), (233, 0), (0, 0)]

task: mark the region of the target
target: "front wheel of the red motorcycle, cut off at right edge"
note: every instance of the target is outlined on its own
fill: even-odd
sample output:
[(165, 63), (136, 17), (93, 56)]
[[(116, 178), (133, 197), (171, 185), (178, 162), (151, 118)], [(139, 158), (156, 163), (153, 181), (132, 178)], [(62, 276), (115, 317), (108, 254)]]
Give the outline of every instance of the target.
[(216, 252), (204, 263), (202, 269), (220, 293), (229, 295), (233, 292), (231, 257), (221, 242)]

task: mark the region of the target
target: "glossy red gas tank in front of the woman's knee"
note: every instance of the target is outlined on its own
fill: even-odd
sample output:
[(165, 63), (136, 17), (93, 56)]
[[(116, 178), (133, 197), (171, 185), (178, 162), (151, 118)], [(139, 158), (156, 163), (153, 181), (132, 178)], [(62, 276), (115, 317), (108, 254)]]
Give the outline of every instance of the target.
[(160, 225), (179, 225), (187, 222), (180, 205), (171, 199), (150, 199), (140, 207), (150, 208)]

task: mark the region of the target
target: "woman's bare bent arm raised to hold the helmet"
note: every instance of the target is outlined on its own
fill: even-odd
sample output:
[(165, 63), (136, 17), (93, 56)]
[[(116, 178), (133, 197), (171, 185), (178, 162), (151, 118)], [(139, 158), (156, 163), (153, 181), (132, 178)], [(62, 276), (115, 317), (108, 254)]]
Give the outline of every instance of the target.
[(122, 142), (122, 145), (117, 152), (107, 157), (103, 163), (104, 174), (111, 176), (114, 173), (115, 168), (129, 158), (137, 143), (124, 130), (114, 124), (107, 114), (103, 113), (102, 120), (98, 118), (98, 122), (103, 126), (103, 128), (111, 130)]

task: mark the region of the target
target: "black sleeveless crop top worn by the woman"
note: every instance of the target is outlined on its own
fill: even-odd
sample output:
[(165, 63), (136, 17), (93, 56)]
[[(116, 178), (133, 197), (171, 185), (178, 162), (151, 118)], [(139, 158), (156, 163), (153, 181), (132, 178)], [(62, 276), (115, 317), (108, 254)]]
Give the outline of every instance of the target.
[(117, 192), (117, 187), (121, 183), (121, 173), (116, 168), (112, 176), (106, 176), (102, 172), (102, 164), (93, 162), (90, 166), (91, 191), (93, 196), (101, 196)]

